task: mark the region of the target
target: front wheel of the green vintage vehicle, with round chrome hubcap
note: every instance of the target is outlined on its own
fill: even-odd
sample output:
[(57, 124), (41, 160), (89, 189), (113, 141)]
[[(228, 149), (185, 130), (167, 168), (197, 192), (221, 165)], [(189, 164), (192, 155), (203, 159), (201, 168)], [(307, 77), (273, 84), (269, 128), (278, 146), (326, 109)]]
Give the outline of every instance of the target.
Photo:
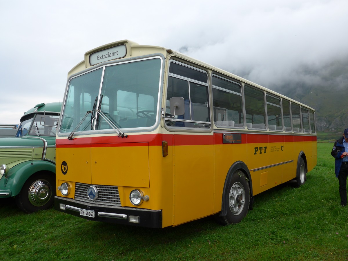
[(48, 209), (53, 205), (56, 190), (53, 173), (34, 174), (24, 183), (15, 197), (19, 209), (26, 213)]

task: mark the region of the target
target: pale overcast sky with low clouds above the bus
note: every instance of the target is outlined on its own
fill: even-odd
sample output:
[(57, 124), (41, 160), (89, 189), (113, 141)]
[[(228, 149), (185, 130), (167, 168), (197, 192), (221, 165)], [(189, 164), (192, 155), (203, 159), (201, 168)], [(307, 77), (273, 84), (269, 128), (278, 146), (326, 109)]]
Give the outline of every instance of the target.
[(281, 93), (346, 63), (347, 27), (347, 0), (0, 1), (0, 125), (62, 102), (68, 71), (109, 42), (174, 49)]

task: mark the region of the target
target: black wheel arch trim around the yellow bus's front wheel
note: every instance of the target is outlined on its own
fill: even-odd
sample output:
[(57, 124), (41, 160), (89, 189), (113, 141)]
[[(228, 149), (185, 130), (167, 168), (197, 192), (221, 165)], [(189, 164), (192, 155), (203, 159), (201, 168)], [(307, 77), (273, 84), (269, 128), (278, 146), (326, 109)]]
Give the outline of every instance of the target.
[[(253, 203), (254, 203), (253, 184), (252, 184), (252, 180), (251, 180), (250, 171), (249, 171), (248, 167), (246, 166), (246, 164), (243, 161), (236, 161), (229, 168), (228, 173), (226, 175), (225, 183), (223, 185), (222, 195), (225, 195), (225, 192), (226, 192), (226, 190), (228, 188), (228, 184), (231, 182), (232, 176), (238, 170), (242, 171), (246, 175), (246, 177), (248, 179), (249, 188), (250, 188), (250, 205), (249, 205), (249, 209), (253, 209)], [(228, 209), (229, 209), (228, 201), (226, 200), (225, 197), (222, 196), (220, 216), (226, 216)]]

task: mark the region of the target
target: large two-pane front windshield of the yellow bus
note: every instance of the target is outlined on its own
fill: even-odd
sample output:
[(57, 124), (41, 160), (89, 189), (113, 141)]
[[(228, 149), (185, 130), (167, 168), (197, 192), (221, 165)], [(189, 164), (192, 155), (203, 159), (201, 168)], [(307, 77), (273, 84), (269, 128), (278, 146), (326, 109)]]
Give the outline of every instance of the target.
[(160, 58), (105, 65), (72, 78), (60, 132), (70, 133), (79, 124), (76, 131), (154, 126), (160, 79)]

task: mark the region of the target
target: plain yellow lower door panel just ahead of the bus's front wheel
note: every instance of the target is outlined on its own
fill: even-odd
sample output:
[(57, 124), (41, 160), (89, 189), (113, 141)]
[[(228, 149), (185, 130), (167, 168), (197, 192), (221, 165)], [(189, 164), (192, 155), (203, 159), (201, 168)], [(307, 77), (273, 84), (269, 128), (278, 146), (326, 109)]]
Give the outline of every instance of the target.
[(213, 214), (213, 145), (174, 146), (173, 225)]

